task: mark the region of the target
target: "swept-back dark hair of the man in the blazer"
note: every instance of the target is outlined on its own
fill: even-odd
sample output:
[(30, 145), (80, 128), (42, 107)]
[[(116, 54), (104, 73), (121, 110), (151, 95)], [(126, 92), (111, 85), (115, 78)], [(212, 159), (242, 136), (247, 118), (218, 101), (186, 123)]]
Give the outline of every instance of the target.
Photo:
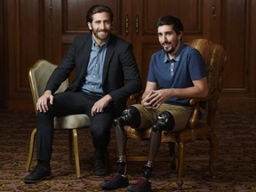
[(103, 4), (95, 4), (88, 10), (86, 14), (86, 22), (92, 23), (92, 15), (99, 12), (108, 12), (110, 16), (110, 21), (111, 23), (113, 22), (113, 18), (114, 18), (113, 12), (108, 6)]

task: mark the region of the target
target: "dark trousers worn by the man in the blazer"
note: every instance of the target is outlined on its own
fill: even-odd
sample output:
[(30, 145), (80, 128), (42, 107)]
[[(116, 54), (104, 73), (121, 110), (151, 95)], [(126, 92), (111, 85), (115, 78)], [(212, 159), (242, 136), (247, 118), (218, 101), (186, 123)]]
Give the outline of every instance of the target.
[(49, 110), (37, 113), (36, 117), (36, 148), (37, 160), (50, 161), (52, 156), (53, 119), (54, 116), (86, 114), (90, 117), (93, 146), (100, 151), (105, 150), (110, 141), (115, 108), (108, 105), (103, 113), (91, 116), (93, 104), (100, 100), (85, 92), (61, 92), (54, 95), (53, 105), (48, 102)]

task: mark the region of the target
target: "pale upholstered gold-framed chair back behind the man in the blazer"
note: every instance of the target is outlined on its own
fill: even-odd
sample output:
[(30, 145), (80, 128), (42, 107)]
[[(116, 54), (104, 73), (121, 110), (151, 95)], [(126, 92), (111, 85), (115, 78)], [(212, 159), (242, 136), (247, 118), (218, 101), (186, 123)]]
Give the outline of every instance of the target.
[[(55, 68), (57, 68), (57, 65), (54, 65), (47, 60), (38, 60), (32, 68), (29, 68), (28, 79), (36, 114), (36, 102), (38, 98), (44, 94), (47, 81)], [(60, 85), (56, 92), (64, 92), (67, 87), (68, 79)]]

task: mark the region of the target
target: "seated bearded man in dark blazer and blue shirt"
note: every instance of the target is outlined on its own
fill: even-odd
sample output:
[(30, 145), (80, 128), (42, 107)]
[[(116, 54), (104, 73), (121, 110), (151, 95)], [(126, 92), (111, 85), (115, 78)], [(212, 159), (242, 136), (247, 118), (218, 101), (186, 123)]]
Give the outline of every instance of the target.
[[(54, 116), (87, 114), (91, 120), (95, 148), (93, 174), (106, 176), (106, 152), (113, 119), (120, 116), (132, 93), (142, 87), (132, 44), (111, 34), (113, 12), (105, 5), (93, 5), (86, 15), (90, 33), (76, 36), (59, 67), (50, 77), (44, 94), (37, 100), (37, 165), (25, 177), (35, 183), (51, 177)], [(53, 94), (76, 70), (66, 92)]]

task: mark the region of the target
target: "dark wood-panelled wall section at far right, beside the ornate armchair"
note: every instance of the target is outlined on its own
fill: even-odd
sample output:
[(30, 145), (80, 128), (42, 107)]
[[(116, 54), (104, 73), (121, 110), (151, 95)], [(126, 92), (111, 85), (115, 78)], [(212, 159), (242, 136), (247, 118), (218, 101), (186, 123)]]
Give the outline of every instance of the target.
[(256, 108), (255, 0), (225, 0), (221, 1), (221, 7), (227, 63), (220, 108), (253, 110)]

